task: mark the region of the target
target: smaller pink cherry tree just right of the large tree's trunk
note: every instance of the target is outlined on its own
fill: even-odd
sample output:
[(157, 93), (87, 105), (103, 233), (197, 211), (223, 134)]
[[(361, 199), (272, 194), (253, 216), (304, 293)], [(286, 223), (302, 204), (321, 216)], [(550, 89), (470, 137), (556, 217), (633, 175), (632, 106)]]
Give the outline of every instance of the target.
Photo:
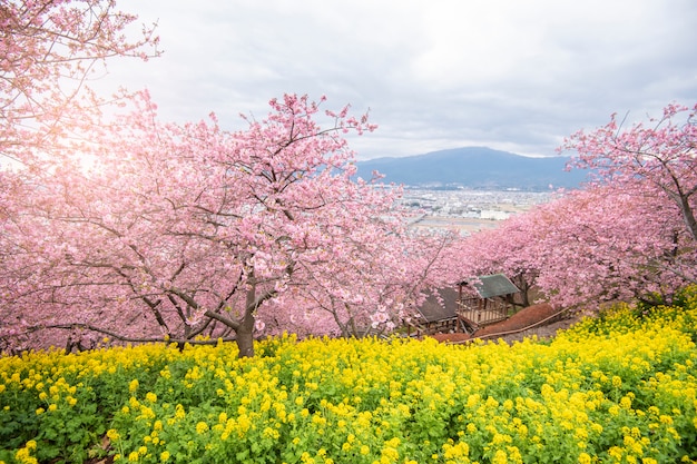
[[(375, 190), (366, 194), (385, 195)], [(382, 214), (394, 215), (389, 209)], [(304, 266), (306, 285), (297, 286), (292, 294), (294, 305), (303, 308), (302, 314), (288, 314), (289, 320), (283, 323), (274, 318), (274, 332), (293, 327), (300, 334), (362, 336), (379, 325), (380, 329), (389, 328), (385, 324), (391, 323), (392, 312), (385, 305), (394, 307), (397, 295), (402, 295), (403, 279), (395, 260), (403, 249), (404, 229), (397, 218), (363, 220), (373, 215), (367, 204), (356, 205), (346, 219), (362, 223), (361, 227), (336, 230), (335, 246), (324, 249), (312, 266)]]

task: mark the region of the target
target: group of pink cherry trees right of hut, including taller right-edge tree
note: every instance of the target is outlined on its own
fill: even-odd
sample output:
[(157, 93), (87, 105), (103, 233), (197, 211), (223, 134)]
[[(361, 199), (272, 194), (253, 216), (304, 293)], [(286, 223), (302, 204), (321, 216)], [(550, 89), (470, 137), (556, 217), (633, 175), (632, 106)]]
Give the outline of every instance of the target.
[(570, 168), (590, 172), (502, 227), (464, 240), (463, 272), (503, 272), (566, 307), (669, 300), (697, 283), (697, 106), (669, 105), (629, 128), (610, 122), (563, 145)]

